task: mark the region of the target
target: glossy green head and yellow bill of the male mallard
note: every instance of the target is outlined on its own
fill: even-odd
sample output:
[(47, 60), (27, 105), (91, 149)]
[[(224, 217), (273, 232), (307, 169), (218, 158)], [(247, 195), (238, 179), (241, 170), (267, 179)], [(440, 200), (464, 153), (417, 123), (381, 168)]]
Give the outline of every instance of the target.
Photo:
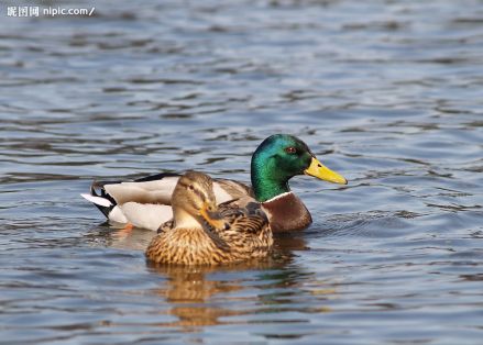
[(322, 165), (298, 137), (274, 134), (265, 138), (252, 156), (252, 187), (260, 202), (288, 192), (288, 180), (310, 175), (329, 182), (347, 185), (345, 178)]

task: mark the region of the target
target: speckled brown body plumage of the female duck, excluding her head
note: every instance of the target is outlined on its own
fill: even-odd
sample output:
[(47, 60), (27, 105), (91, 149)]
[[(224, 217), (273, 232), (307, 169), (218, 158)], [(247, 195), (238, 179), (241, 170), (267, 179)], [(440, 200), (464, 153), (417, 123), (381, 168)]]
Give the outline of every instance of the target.
[(175, 220), (162, 224), (146, 257), (163, 264), (221, 265), (268, 255), (273, 235), (260, 203), (252, 201), (240, 208), (228, 201), (217, 212), (228, 224), (224, 229), (206, 221), (193, 229), (177, 227)]

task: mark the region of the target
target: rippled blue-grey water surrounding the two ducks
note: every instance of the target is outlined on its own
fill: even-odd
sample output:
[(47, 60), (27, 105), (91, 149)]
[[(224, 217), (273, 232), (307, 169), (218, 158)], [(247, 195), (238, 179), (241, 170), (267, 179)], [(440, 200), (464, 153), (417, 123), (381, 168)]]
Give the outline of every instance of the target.
[[(2, 342), (481, 344), (481, 1), (61, 4), (0, 5)], [(246, 181), (277, 132), (350, 183), (294, 178), (315, 222), (257, 265), (151, 267), (78, 196)]]

